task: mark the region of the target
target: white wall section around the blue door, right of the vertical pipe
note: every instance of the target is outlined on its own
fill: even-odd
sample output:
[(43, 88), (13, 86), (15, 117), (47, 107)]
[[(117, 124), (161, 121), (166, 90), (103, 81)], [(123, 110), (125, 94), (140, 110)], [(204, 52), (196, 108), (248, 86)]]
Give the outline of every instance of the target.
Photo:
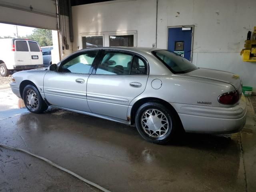
[(240, 56), (255, 18), (256, 0), (158, 0), (157, 47), (167, 48), (167, 26), (194, 25), (192, 62), (239, 74), (256, 92), (256, 62)]

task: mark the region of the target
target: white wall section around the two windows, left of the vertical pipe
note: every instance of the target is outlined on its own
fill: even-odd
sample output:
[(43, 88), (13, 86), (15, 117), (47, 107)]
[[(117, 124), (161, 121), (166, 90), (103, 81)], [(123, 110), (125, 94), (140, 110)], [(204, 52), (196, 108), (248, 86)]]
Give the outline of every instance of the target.
[(137, 46), (152, 47), (156, 42), (156, 0), (120, 0), (73, 6), (72, 16), (74, 51), (78, 46), (82, 48), (82, 33), (137, 31)]

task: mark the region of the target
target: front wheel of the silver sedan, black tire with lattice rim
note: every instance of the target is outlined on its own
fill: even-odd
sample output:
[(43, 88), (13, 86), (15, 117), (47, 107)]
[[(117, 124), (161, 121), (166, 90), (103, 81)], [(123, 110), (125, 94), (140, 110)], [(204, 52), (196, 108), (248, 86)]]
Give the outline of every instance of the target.
[(27, 85), (24, 88), (22, 95), (23, 95), (24, 104), (30, 112), (42, 113), (48, 108), (48, 105), (44, 102), (41, 94), (39, 93), (37, 88), (35, 88), (33, 85)]

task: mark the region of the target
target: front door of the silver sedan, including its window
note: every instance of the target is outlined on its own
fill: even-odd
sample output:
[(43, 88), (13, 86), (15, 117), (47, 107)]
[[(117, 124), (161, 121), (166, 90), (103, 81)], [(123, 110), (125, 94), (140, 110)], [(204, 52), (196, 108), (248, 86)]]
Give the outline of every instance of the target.
[(53, 106), (90, 112), (86, 84), (99, 50), (74, 54), (44, 76), (44, 96)]

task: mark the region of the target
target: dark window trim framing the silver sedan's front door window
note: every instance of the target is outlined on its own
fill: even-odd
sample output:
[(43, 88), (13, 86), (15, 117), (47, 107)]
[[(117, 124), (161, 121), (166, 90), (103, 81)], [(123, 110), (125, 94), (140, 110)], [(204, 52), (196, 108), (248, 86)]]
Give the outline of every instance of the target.
[[(88, 72), (88, 73), (73, 73), (73, 74), (84, 74), (84, 75), (85, 75), (85, 74), (89, 74), (89, 75), (92, 74), (92, 70), (93, 70), (93, 68), (94, 68), (96, 59), (99, 57), (100, 52), (101, 52), (100, 49), (84, 50), (84, 51), (76, 52), (76, 53), (74, 53), (74, 54), (68, 56), (67, 58), (65, 58), (64, 60), (62, 60), (60, 63), (58, 63), (58, 68), (57, 68), (56, 72), (59, 72), (59, 73), (69, 73), (69, 72), (62, 72), (62, 71), (60, 71), (61, 67), (62, 67), (64, 64), (66, 64), (67, 62), (71, 61), (72, 59), (74, 59), (74, 58), (76, 58), (76, 57), (78, 57), (78, 56), (80, 56), (80, 55), (84, 55), (84, 54), (86, 54), (86, 52), (90, 52), (90, 51), (98, 51), (98, 53), (96, 54), (96, 56), (95, 56), (95, 58), (94, 58), (94, 60), (93, 60), (93, 62), (92, 62), (92, 65), (90, 66), (89, 72)], [(70, 72), (70, 73), (72, 73), (72, 72)]]

